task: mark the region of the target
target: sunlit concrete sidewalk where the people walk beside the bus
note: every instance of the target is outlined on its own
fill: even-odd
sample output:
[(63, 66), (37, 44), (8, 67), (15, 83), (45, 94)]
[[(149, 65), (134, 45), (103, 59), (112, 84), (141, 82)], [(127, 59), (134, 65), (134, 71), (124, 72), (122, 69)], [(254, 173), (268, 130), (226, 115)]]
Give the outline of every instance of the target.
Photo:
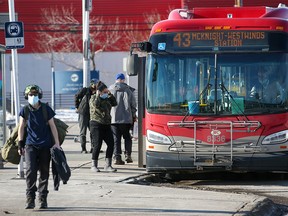
[[(0, 215), (272, 215), (275, 206), (265, 197), (181, 188), (165, 188), (125, 183), (125, 179), (145, 175), (137, 166), (137, 142), (133, 143), (134, 163), (114, 165), (116, 173), (103, 171), (104, 153), (100, 154), (100, 173), (90, 170), (91, 154), (80, 153), (77, 123), (69, 124), (62, 145), (72, 175), (59, 191), (53, 190), (50, 176), (48, 209), (25, 210), (24, 179), (17, 178), (17, 166), (5, 163), (0, 169)], [(90, 143), (88, 144), (90, 150)], [(251, 214), (251, 212), (254, 212)]]

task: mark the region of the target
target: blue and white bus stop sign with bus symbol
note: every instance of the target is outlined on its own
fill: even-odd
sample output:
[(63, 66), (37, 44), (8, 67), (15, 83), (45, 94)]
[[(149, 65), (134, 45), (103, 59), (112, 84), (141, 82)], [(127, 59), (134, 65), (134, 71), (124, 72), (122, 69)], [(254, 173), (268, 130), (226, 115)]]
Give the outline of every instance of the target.
[(24, 48), (23, 22), (5, 22), (6, 49)]

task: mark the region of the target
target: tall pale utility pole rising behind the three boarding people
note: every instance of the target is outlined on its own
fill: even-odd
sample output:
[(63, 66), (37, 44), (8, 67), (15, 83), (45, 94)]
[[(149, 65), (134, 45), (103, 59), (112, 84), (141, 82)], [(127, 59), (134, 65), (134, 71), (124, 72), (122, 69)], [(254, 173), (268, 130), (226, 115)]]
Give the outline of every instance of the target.
[(88, 80), (90, 78), (89, 15), (91, 10), (92, 10), (92, 0), (82, 0), (83, 87), (88, 87)]

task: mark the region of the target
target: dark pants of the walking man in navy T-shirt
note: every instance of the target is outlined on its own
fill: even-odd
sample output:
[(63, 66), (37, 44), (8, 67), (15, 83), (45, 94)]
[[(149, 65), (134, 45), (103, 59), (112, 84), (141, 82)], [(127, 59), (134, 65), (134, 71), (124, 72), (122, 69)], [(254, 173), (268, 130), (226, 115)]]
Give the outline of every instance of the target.
[(35, 199), (37, 191), (37, 172), (39, 170), (39, 197), (47, 197), (48, 180), (50, 167), (50, 148), (35, 147), (26, 145), (25, 147), (25, 162), (26, 162), (26, 196)]

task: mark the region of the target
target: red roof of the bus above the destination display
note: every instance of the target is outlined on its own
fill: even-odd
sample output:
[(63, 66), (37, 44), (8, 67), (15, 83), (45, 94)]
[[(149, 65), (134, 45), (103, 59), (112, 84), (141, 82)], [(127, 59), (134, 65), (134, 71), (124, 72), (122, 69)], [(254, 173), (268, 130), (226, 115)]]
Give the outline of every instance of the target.
[(288, 7), (223, 7), (175, 9), (156, 23), (151, 35), (199, 30), (267, 30), (288, 32)]

